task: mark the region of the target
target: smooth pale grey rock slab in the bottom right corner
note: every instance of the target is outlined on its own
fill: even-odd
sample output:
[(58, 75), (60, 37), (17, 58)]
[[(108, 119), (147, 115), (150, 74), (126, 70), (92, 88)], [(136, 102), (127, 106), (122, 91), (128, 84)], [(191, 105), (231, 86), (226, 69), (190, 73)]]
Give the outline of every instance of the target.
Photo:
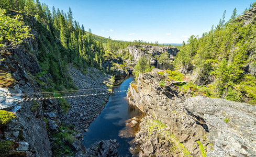
[(256, 106), (218, 98), (186, 99), (187, 113), (209, 130), (207, 156), (256, 156)]

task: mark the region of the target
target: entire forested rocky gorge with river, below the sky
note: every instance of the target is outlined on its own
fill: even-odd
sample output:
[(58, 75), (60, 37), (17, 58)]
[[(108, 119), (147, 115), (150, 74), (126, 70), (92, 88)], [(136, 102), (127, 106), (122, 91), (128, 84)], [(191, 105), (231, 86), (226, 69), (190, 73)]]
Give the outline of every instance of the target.
[(256, 156), (256, 3), (225, 15), (174, 47), (0, 1), (0, 156)]

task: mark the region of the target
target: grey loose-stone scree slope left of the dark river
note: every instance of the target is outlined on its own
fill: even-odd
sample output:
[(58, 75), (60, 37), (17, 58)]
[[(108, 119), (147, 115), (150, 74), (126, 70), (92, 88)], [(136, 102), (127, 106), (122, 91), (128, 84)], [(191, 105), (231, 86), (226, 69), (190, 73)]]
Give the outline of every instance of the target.
[[(86, 74), (81, 73), (73, 65), (69, 65), (69, 74), (73, 79), (73, 84), (83, 90), (68, 94), (68, 96), (96, 94), (108, 92), (106, 84), (110, 82), (110, 75), (105, 74), (95, 68), (87, 68)], [(97, 89), (94, 89), (97, 88)], [(109, 94), (82, 96), (75, 98), (66, 98), (70, 104), (68, 112), (61, 114), (61, 121), (65, 124), (73, 124), (76, 126), (75, 130), (84, 132), (91, 122), (101, 113), (108, 101)]]

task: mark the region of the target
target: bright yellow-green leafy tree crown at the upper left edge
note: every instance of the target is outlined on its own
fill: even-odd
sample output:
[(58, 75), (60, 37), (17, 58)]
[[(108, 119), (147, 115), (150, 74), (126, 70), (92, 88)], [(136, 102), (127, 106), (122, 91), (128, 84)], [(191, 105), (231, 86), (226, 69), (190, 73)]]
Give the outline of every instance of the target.
[(32, 37), (29, 33), (30, 28), (20, 21), (20, 15), (10, 18), (5, 14), (6, 10), (0, 8), (0, 55), (7, 49), (18, 48), (20, 43)]

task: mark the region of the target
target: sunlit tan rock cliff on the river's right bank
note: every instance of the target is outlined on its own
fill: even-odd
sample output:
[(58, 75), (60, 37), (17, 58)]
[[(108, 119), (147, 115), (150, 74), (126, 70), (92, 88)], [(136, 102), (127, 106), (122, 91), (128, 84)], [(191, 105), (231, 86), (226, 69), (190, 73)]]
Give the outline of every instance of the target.
[[(168, 153), (175, 155), (175, 151), (179, 154), (178, 150), (185, 150), (180, 147), (174, 151), (165, 151), (163, 148), (166, 149), (166, 143), (173, 143), (170, 147), (182, 143), (192, 156), (203, 156), (205, 153), (209, 156), (255, 155), (256, 143), (251, 134), (256, 131), (255, 106), (222, 99), (187, 98), (190, 92), (184, 94), (174, 84), (165, 83), (165, 87), (161, 87), (159, 82), (164, 79), (164, 75), (158, 72), (158, 69), (153, 69), (140, 75), (137, 85), (130, 85), (128, 93), (130, 104), (136, 105), (167, 127), (155, 125), (150, 118), (142, 122), (142, 131), (136, 136), (143, 150), (142, 155), (157, 152), (161, 156), (168, 156)], [(151, 127), (153, 130), (150, 130)], [(152, 132), (158, 132), (161, 136), (152, 135)], [(179, 142), (175, 138), (172, 140), (170, 134)], [(148, 137), (151, 140), (147, 140)], [(184, 151), (183, 155), (187, 156), (187, 153)]]

